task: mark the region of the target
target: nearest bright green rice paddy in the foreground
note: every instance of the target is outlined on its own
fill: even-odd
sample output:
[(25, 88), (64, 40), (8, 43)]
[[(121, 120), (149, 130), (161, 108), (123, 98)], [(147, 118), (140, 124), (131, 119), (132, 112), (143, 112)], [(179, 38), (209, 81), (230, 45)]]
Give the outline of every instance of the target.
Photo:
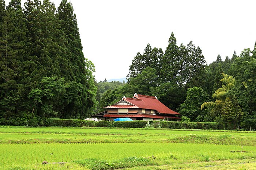
[(12, 165), (39, 165), (43, 161), (71, 163), (72, 160), (84, 158), (113, 163), (121, 158), (143, 157), (159, 165), (256, 158), (256, 148), (253, 146), (244, 146), (244, 150), (251, 151), (249, 153), (231, 153), (230, 150), (240, 150), (241, 146), (195, 143), (0, 144), (0, 148), (0, 159), (4, 162), (0, 169)]

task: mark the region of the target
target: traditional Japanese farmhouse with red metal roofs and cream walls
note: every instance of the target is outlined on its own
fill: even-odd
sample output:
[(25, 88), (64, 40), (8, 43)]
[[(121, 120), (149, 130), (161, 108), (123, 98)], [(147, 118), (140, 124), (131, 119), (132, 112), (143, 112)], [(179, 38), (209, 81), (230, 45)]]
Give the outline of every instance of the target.
[(180, 121), (180, 114), (169, 109), (155, 96), (135, 93), (133, 98), (125, 96), (119, 102), (106, 106), (106, 111), (92, 115), (93, 117), (113, 120), (115, 118), (131, 118), (132, 120), (167, 120)]

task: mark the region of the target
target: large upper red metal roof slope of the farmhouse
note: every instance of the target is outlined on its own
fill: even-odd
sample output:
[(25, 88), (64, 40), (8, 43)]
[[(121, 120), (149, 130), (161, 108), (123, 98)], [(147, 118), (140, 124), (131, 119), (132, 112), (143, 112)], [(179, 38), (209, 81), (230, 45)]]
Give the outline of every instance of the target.
[(163, 113), (163, 114), (179, 115), (179, 113), (171, 110), (170, 108), (165, 106), (163, 103), (161, 103), (156, 97), (153, 97), (153, 96), (138, 94), (138, 96), (133, 96), (133, 98), (126, 98), (123, 100), (127, 100), (129, 103), (132, 103), (133, 105), (138, 106), (139, 108), (156, 110), (157, 112)]

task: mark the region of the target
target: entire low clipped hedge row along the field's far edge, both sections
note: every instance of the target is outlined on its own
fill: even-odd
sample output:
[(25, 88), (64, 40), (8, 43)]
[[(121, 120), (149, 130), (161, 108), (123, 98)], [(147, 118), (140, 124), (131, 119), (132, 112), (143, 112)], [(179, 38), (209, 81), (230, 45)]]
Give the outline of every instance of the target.
[[(153, 121), (149, 122), (150, 127), (154, 128), (169, 128), (169, 129), (209, 129), (209, 130), (224, 130), (225, 124), (216, 122), (167, 122)], [(117, 121), (108, 122), (101, 120), (99, 122), (77, 120), (77, 119), (0, 119), (0, 125), (12, 126), (69, 126), (69, 127), (128, 127), (128, 128), (143, 128), (146, 127), (146, 121)]]

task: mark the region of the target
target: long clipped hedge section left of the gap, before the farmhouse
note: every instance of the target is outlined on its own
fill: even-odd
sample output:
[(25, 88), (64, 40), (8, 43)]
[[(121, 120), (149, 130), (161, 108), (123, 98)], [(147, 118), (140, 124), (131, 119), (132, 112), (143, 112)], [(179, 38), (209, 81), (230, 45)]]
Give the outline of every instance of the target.
[(48, 118), (46, 119), (45, 126), (86, 126), (86, 127), (129, 127), (129, 128), (143, 128), (146, 127), (146, 121), (118, 121), (108, 122), (101, 120), (99, 122), (87, 121), (87, 120), (76, 120), (76, 119), (57, 119)]

